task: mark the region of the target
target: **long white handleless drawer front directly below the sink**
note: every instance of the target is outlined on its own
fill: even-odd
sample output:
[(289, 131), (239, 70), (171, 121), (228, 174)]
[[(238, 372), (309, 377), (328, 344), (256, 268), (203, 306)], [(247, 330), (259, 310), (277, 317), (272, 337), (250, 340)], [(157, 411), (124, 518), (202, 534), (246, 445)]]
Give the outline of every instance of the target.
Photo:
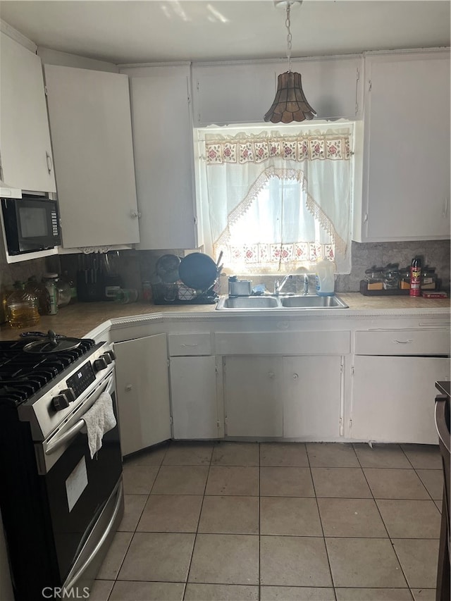
[(216, 354), (321, 354), (350, 352), (350, 332), (217, 333)]

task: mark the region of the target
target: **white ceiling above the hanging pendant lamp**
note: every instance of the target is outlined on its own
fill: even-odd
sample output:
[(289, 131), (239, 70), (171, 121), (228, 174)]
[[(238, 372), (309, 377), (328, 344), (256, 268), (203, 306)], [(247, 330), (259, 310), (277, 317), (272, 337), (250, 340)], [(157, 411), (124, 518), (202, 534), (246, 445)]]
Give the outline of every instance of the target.
[[(292, 56), (450, 46), (449, 0), (304, 0)], [(112, 63), (280, 58), (272, 0), (1, 0), (0, 18), (37, 46)]]

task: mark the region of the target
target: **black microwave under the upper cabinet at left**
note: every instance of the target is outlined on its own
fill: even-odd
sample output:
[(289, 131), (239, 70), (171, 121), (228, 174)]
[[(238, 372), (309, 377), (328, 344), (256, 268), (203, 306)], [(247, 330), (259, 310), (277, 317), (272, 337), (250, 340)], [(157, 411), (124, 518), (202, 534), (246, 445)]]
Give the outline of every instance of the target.
[(28, 195), (1, 198), (1, 212), (8, 254), (47, 250), (61, 244), (56, 200)]

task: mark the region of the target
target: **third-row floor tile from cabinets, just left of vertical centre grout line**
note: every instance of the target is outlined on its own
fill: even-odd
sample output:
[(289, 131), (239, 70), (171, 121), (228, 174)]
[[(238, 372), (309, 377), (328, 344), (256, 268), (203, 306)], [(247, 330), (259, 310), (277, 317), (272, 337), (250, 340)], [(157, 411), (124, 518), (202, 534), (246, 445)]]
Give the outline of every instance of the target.
[(199, 532), (210, 534), (258, 534), (259, 498), (204, 497)]

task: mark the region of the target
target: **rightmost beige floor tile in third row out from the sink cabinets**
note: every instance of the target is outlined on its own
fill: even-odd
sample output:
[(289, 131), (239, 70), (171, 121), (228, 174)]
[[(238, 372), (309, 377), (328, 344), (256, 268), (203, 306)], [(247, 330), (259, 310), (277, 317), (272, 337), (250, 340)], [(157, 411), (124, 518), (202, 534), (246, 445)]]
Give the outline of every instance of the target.
[(433, 501), (377, 501), (390, 538), (440, 538), (440, 512)]

